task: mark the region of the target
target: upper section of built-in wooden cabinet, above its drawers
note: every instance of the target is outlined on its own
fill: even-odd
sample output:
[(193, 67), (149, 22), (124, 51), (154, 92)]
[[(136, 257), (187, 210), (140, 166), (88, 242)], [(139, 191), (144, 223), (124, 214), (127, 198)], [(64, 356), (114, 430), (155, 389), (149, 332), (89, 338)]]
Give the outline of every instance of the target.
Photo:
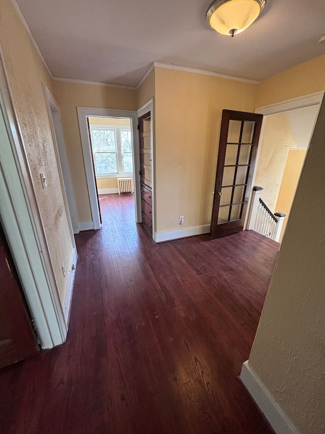
[(150, 111), (139, 118), (140, 182), (152, 186), (151, 171), (151, 117)]

